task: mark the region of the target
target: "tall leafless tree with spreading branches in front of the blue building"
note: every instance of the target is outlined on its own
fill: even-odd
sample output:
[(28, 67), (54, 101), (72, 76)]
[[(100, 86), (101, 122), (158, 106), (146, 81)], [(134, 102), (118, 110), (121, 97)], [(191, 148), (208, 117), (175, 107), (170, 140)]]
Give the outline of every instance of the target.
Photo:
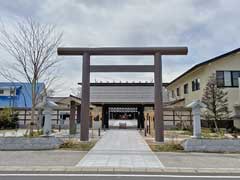
[[(47, 88), (56, 78), (56, 48), (60, 45), (62, 33), (58, 33), (53, 25), (40, 24), (29, 18), (18, 21), (12, 32), (2, 24), (0, 38), (0, 46), (13, 57), (13, 63), (0, 73), (10, 81), (25, 79), (31, 84), (31, 124), (35, 125), (37, 85), (44, 82)], [(30, 128), (32, 131), (33, 127)]]

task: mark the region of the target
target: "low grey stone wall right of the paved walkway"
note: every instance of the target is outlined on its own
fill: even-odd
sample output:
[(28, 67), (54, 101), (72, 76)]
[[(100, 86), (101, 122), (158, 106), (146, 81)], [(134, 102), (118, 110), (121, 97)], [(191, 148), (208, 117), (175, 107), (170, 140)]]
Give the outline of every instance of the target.
[(240, 152), (240, 140), (188, 139), (182, 145), (185, 151)]

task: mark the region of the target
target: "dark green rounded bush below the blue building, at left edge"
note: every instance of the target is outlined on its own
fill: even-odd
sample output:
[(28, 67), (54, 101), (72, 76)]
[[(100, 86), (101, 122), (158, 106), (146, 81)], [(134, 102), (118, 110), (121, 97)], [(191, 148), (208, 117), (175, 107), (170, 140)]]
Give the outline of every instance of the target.
[(0, 129), (18, 128), (18, 113), (9, 108), (0, 111)]

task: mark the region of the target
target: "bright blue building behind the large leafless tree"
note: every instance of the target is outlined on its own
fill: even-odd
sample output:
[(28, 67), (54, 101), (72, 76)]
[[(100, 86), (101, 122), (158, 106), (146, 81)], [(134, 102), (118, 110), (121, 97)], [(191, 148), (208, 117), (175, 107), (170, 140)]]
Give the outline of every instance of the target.
[[(36, 92), (39, 95), (45, 88), (38, 83)], [(32, 86), (22, 82), (0, 82), (0, 108), (28, 109), (32, 107)]]

